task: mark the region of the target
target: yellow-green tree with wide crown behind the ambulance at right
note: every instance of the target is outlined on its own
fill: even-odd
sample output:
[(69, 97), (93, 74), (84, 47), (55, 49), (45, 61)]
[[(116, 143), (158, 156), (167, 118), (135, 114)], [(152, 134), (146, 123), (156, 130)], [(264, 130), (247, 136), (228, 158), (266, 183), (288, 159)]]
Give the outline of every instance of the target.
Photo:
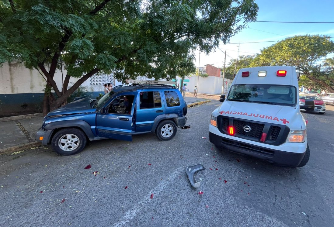
[(297, 35), (264, 48), (251, 66), (295, 66), (318, 87), (334, 91), (334, 75), (319, 64), (320, 58), (334, 52), (334, 42), (329, 36)]

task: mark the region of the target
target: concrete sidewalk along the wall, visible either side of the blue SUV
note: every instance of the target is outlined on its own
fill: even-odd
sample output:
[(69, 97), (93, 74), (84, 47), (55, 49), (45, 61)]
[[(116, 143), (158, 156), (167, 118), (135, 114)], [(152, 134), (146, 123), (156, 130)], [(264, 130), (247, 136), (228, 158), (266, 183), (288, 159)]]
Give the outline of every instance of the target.
[[(186, 92), (188, 107), (210, 102), (210, 96), (194, 98), (190, 95), (193, 93)], [(35, 141), (35, 135), (42, 126), (43, 118), (42, 113), (0, 118), (0, 155), (42, 146), (39, 141)]]

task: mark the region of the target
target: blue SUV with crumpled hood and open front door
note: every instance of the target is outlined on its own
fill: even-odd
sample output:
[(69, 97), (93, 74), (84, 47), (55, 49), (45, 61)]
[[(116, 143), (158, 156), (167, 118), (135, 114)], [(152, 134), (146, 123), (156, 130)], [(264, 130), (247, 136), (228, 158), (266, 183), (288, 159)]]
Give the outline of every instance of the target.
[(82, 97), (49, 112), (36, 140), (51, 143), (61, 155), (82, 151), (87, 140), (132, 141), (132, 135), (153, 132), (165, 141), (185, 126), (186, 114), (187, 104), (174, 86), (117, 86), (99, 100)]

